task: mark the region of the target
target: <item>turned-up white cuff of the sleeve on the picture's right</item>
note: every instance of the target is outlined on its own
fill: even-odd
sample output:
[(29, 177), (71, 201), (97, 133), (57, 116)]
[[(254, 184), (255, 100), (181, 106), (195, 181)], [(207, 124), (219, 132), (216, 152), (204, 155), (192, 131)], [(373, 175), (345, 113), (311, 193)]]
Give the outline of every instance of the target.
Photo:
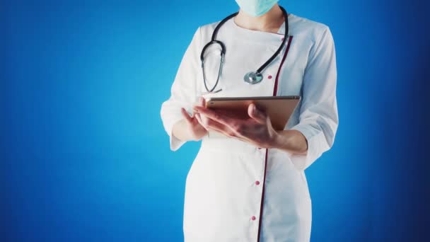
[(322, 132), (315, 131), (312, 127), (308, 125), (295, 125), (291, 127), (298, 132), (301, 132), (308, 142), (308, 151), (306, 154), (291, 154), (290, 159), (299, 171), (304, 171), (310, 166), (316, 159), (321, 156), (319, 145), (321, 144), (320, 139), (324, 139), (324, 134)]

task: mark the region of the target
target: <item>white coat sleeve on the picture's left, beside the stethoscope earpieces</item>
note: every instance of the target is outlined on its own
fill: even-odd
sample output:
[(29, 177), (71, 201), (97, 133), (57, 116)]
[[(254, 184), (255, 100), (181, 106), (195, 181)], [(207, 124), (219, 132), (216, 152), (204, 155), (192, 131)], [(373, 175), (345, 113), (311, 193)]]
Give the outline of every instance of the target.
[(161, 120), (163, 127), (170, 137), (170, 150), (176, 151), (185, 144), (172, 134), (175, 122), (182, 120), (180, 109), (185, 108), (192, 113), (192, 105), (197, 100), (197, 68), (199, 68), (200, 28), (194, 33), (190, 45), (180, 62), (175, 80), (170, 88), (170, 98), (161, 105)]

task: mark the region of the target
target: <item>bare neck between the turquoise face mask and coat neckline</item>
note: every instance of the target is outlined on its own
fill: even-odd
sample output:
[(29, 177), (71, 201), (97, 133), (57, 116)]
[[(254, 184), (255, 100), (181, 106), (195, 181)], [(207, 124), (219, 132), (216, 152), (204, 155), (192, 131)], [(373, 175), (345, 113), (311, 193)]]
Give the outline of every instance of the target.
[(250, 16), (240, 9), (233, 20), (236, 25), (242, 28), (270, 33), (278, 33), (279, 28), (285, 21), (284, 14), (278, 4), (274, 4), (267, 13), (258, 17)]

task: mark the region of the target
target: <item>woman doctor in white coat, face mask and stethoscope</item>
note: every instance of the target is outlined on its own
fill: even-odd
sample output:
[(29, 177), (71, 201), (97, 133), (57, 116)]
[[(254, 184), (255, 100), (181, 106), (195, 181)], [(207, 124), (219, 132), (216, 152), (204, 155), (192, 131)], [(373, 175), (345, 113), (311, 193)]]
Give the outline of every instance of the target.
[[(338, 125), (332, 34), (277, 0), (236, 2), (238, 13), (197, 28), (161, 105), (171, 150), (202, 140), (185, 185), (185, 241), (309, 241), (304, 170)], [(281, 131), (254, 104), (245, 119), (204, 108), (209, 97), (290, 95), (301, 101)]]

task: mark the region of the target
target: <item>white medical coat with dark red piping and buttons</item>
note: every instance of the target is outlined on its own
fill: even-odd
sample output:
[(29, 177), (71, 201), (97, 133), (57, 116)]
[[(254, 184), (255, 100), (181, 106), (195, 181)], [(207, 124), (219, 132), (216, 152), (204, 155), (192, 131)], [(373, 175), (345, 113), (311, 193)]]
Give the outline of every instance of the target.
[[(202, 25), (194, 33), (171, 87), (161, 105), (161, 119), (170, 149), (184, 144), (172, 135), (182, 119), (180, 108), (192, 105), (206, 91), (199, 59), (219, 22)], [(226, 45), (219, 79), (223, 91), (204, 97), (302, 97), (285, 129), (296, 129), (308, 141), (306, 155), (279, 149), (259, 149), (232, 138), (202, 139), (187, 174), (183, 231), (185, 241), (309, 241), (311, 202), (304, 170), (331, 148), (338, 125), (336, 60), (327, 25), (289, 14), (289, 37), (281, 53), (255, 85), (243, 81), (274, 54), (278, 33), (240, 28), (233, 18), (220, 28), (217, 40)], [(216, 81), (220, 47), (205, 54), (208, 86)]]

